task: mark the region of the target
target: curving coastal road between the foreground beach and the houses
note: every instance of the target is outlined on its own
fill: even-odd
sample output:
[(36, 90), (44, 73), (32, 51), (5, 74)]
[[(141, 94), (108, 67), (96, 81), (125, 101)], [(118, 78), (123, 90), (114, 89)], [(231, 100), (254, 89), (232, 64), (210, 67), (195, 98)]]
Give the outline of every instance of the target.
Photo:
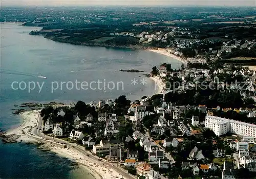
[[(51, 141), (54, 141), (56, 143), (67, 143), (67, 146), (69, 147), (73, 147), (74, 149), (76, 149), (78, 152), (80, 152), (82, 155), (84, 155), (84, 157), (86, 158), (90, 158), (91, 161), (95, 162), (96, 164), (97, 163), (100, 163), (100, 164), (103, 164), (103, 165), (106, 165), (108, 166), (109, 168), (112, 168), (114, 169), (115, 171), (117, 171), (120, 175), (122, 175), (123, 177), (125, 178), (136, 178), (136, 176), (134, 175), (131, 175), (130, 173), (127, 173), (126, 170), (124, 170), (122, 167), (120, 166), (117, 166), (118, 163), (109, 163), (109, 162), (106, 162), (104, 160), (102, 161), (99, 161), (98, 159), (100, 159), (99, 157), (97, 156), (94, 156), (90, 151), (87, 151), (84, 149), (84, 147), (82, 146), (78, 146), (76, 143), (69, 143), (65, 140), (62, 140), (62, 139), (58, 139), (58, 138), (52, 138), (50, 136), (46, 136), (42, 133), (42, 117), (40, 117), (40, 115), (38, 115), (38, 118), (37, 118), (37, 126), (34, 127), (34, 129), (31, 131), (31, 134), (33, 134), (36, 138), (41, 138), (41, 139), (45, 139), (44, 141), (46, 142), (51, 142)], [(48, 140), (47, 140), (48, 139)]]

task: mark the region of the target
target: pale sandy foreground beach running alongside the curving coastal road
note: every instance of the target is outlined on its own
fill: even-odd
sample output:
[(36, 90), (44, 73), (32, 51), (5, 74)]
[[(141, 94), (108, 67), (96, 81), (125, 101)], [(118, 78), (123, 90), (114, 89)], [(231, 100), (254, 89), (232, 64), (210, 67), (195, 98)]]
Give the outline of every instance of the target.
[[(22, 142), (42, 142), (42, 138), (39, 136), (31, 137), (31, 130), (37, 126), (37, 119), (39, 117), (39, 110), (26, 111), (20, 114), (24, 119), (23, 123), (15, 129), (9, 130), (6, 135), (18, 135), (20, 136), (17, 141)], [(38, 140), (36, 139), (38, 138)], [(125, 178), (111, 167), (104, 164), (104, 162), (96, 161), (95, 159), (81, 154), (78, 150), (68, 146), (67, 148), (60, 148), (53, 144), (51, 140), (45, 142), (42, 148), (50, 149), (61, 157), (68, 158), (79, 164), (80, 167), (84, 167), (90, 170), (91, 174), (96, 178)], [(115, 163), (116, 165), (116, 163)]]

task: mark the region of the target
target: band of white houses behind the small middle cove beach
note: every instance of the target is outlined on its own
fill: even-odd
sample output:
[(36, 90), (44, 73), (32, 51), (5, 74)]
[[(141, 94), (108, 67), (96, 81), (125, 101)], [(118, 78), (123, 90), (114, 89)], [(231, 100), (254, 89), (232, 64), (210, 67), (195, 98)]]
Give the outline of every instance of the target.
[[(175, 76), (180, 79), (179, 87), (175, 89), (166, 88), (166, 84), (163, 83), (163, 80), (166, 78), (166, 75), (169, 75), (170, 78)], [(219, 75), (231, 75), (231, 76), (242, 76), (241, 82), (223, 82), (218, 78)], [(182, 92), (191, 88), (196, 87), (197, 82), (203, 79), (209, 85), (215, 86), (217, 84), (217, 89), (219, 90), (239, 90), (243, 98), (251, 98), (256, 101), (256, 92), (255, 92), (255, 79), (256, 71), (242, 68), (240, 70), (234, 70), (229, 67), (224, 67), (216, 69), (211, 72), (209, 69), (197, 69), (197, 68), (186, 68), (181, 71), (167, 71), (165, 66), (160, 66), (158, 69), (158, 75), (154, 76), (155, 79), (161, 83), (163, 86), (164, 92), (168, 93), (172, 90)], [(199, 83), (199, 85), (202, 85)]]

